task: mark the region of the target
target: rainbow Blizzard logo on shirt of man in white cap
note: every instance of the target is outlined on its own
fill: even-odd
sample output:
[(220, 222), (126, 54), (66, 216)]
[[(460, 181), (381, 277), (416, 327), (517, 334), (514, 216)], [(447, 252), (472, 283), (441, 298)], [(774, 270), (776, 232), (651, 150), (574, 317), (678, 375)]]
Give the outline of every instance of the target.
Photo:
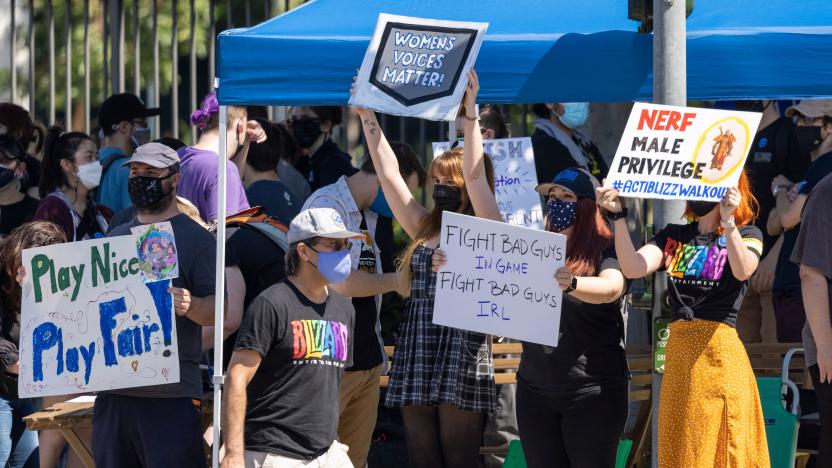
[(343, 323), (328, 320), (293, 320), (293, 364), (344, 367), (349, 350), (348, 339), (349, 330)]

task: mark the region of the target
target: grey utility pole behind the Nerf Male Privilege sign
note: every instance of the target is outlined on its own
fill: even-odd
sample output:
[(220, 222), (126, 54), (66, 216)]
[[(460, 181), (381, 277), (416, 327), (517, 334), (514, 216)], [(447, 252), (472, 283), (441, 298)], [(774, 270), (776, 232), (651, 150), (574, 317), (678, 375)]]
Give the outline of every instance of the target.
[[(687, 46), (685, 0), (653, 1), (653, 102), (687, 105)], [(685, 204), (680, 200), (653, 201), (655, 232), (668, 223), (679, 222)], [(653, 285), (653, 319), (662, 315), (667, 277), (657, 273)], [(653, 337), (655, 344), (655, 337)], [(655, 350), (653, 350), (655, 352)], [(661, 374), (653, 373), (652, 466), (658, 466), (658, 420)]]

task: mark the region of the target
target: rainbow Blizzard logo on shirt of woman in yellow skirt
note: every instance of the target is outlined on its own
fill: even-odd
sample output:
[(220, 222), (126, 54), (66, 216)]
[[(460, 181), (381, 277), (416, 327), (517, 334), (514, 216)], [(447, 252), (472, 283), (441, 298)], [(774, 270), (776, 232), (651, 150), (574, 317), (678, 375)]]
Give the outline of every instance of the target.
[(720, 237), (720, 240), (721, 245), (718, 246), (716, 244), (688, 245), (674, 239), (667, 239), (664, 245), (664, 262), (667, 272), (673, 278), (682, 280), (705, 280), (691, 282), (691, 284), (714, 286), (711, 282), (722, 279), (725, 262), (728, 260), (724, 238)]

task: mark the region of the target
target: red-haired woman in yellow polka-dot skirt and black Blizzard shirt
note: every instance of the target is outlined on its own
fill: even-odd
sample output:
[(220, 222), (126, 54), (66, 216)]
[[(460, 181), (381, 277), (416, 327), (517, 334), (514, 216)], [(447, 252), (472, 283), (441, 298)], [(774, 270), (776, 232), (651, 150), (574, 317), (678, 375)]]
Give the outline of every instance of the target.
[(754, 372), (735, 329), (762, 255), (757, 201), (745, 172), (719, 203), (688, 201), (688, 224), (669, 224), (638, 251), (618, 192), (597, 190), (615, 219), (627, 278), (667, 272), (672, 310), (659, 400), (659, 466), (769, 466)]

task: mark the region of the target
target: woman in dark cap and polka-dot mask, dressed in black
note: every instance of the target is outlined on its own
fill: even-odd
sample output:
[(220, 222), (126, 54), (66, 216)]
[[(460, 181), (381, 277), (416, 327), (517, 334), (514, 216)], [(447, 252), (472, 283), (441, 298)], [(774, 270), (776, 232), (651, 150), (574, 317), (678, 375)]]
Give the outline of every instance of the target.
[(517, 426), (530, 468), (614, 466), (627, 422), (627, 284), (597, 186), (573, 167), (537, 187), (548, 200), (546, 230), (567, 241), (566, 265), (554, 278), (564, 292), (558, 346), (523, 343), (517, 372)]

